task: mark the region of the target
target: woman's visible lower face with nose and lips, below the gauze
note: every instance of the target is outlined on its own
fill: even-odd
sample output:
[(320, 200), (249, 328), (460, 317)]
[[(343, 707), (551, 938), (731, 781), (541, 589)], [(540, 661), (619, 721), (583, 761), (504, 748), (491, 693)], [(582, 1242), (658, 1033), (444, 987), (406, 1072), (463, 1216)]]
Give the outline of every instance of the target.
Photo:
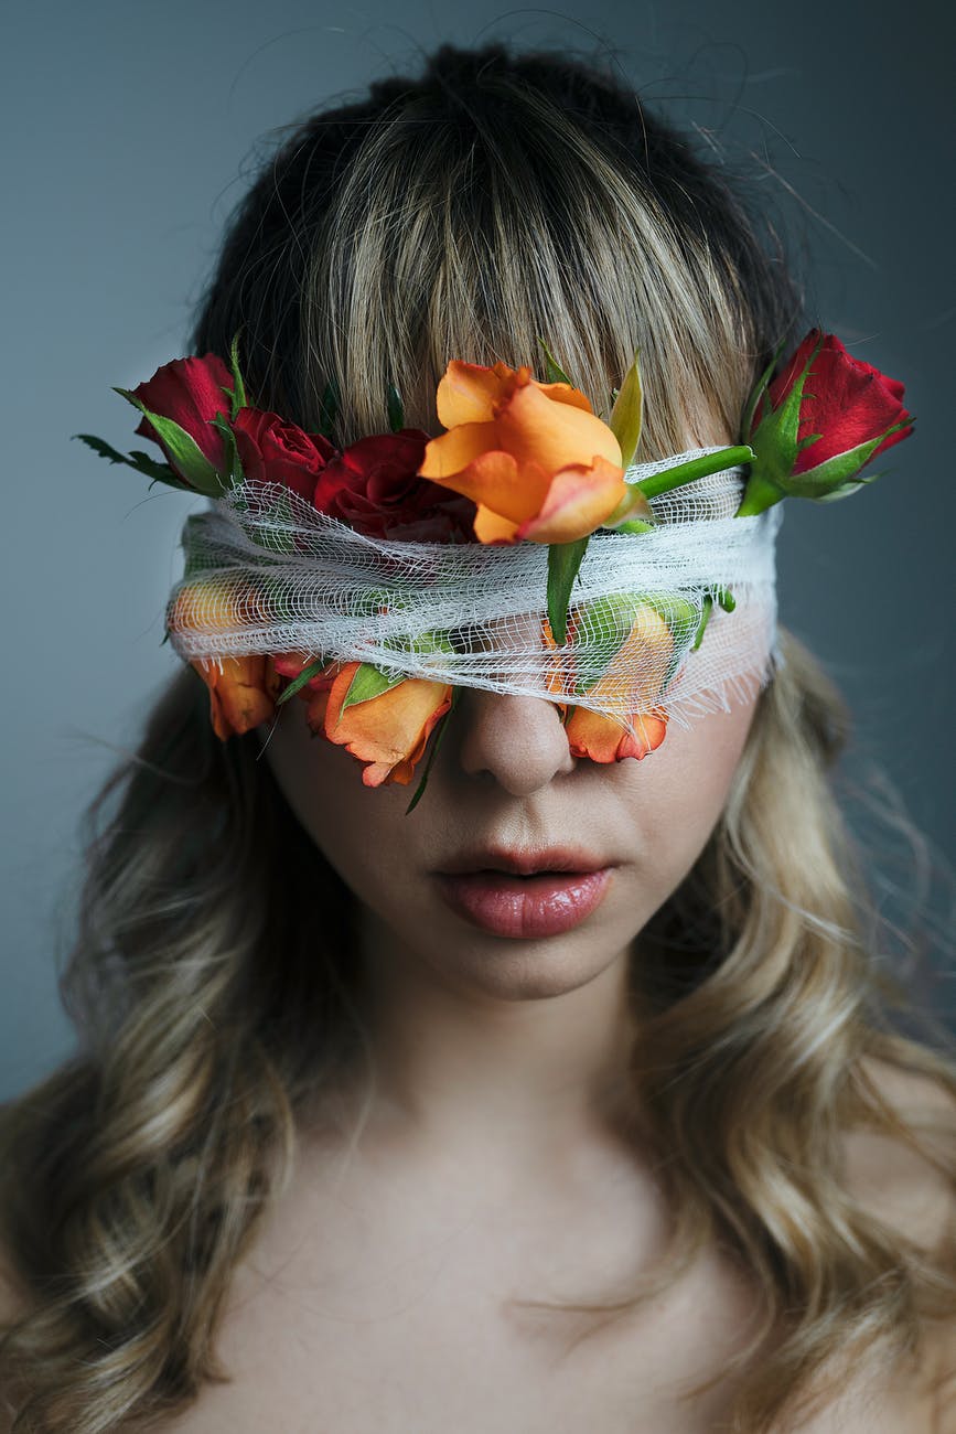
[(312, 737), (302, 703), (279, 711), (259, 728), (267, 759), (367, 938), (464, 994), (520, 1001), (598, 977), (681, 883), (754, 701), (671, 723), (639, 761), (596, 764), (570, 756), (552, 703), (463, 688), (410, 815), (414, 786), (364, 786), (354, 757)]

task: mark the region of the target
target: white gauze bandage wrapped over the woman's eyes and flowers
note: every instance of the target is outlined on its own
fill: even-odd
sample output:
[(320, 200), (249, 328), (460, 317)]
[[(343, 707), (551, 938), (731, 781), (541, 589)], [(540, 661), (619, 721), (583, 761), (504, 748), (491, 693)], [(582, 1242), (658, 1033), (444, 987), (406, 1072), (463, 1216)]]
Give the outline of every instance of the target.
[[(548, 697), (626, 726), (655, 708), (687, 724), (752, 693), (773, 668), (780, 508), (734, 518), (741, 492), (742, 470), (727, 469), (652, 499), (651, 532), (599, 529), (555, 648), (546, 546), (368, 538), (281, 485), (245, 482), (186, 522), (171, 640), (186, 660), (295, 651)], [(694, 651), (722, 591), (735, 608), (714, 602)]]

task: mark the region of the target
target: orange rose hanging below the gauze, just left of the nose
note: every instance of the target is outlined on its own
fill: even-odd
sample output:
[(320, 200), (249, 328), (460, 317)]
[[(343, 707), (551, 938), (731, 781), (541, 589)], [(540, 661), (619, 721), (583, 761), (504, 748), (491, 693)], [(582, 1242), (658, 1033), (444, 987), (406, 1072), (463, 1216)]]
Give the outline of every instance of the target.
[(367, 787), (378, 787), (383, 782), (407, 786), (431, 730), (451, 706), (451, 688), (447, 683), (406, 677), (377, 697), (353, 703), (343, 711), (360, 667), (361, 663), (345, 663), (335, 677), (325, 708), (325, 736), (368, 763), (361, 774)]

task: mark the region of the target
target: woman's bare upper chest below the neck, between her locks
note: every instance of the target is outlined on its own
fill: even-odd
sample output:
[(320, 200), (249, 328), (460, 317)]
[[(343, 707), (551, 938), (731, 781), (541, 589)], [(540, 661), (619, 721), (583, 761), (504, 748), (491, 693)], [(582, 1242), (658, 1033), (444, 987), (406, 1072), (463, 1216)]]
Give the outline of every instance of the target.
[(621, 1196), (573, 1220), (315, 1206), (321, 1229), (272, 1232), (242, 1269), (219, 1345), (232, 1381), (176, 1434), (709, 1434), (754, 1312), (715, 1252), (618, 1319), (522, 1304), (625, 1292), (659, 1230)]

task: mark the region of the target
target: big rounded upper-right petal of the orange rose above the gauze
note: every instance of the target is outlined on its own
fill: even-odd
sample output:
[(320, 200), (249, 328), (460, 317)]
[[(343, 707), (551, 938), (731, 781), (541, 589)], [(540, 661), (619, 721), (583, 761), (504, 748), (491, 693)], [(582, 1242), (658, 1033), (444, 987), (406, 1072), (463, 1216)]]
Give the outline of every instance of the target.
[(595, 455), (621, 467), (621, 445), (596, 414), (569, 403), (555, 403), (542, 386), (516, 389), (497, 414), (499, 447), (522, 463), (536, 463), (546, 473), (560, 473)]

